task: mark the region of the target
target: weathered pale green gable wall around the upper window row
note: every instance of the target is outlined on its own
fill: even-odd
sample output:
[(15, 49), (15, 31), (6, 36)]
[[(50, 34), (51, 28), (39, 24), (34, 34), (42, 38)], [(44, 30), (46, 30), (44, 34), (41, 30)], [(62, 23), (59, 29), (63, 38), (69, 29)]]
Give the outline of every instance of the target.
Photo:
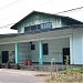
[(33, 14), (30, 18), (23, 20), (18, 25), (18, 33), (23, 33), (24, 27), (40, 24), (40, 23), (46, 23), (46, 22), (52, 22), (52, 28), (60, 28), (60, 27), (64, 25), (61, 21), (61, 18), (43, 15), (43, 14)]

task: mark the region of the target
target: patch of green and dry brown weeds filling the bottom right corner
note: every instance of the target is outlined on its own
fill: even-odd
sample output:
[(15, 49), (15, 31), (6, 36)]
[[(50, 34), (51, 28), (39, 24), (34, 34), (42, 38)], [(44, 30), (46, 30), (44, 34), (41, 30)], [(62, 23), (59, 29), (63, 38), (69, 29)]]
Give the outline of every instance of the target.
[(83, 66), (72, 66), (52, 75), (49, 83), (83, 83)]

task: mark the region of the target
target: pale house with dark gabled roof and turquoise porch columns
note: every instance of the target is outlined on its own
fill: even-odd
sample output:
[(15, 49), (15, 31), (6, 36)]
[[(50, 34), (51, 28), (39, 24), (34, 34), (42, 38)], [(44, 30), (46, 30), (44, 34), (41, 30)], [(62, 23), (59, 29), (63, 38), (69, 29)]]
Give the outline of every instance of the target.
[(83, 64), (83, 22), (75, 19), (32, 11), (11, 29), (17, 34), (0, 35), (0, 61), (45, 64), (52, 59), (58, 64)]

